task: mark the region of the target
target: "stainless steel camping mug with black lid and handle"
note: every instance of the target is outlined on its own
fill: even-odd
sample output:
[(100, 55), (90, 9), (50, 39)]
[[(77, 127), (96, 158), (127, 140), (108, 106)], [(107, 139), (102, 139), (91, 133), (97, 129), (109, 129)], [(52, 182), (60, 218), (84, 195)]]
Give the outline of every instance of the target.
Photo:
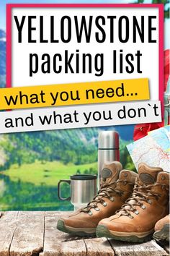
[[(61, 197), (62, 182), (70, 185), (71, 195), (69, 197)], [(97, 175), (75, 174), (71, 176), (71, 179), (61, 179), (58, 182), (58, 198), (63, 201), (71, 201), (74, 210), (84, 208), (95, 195), (97, 195)]]

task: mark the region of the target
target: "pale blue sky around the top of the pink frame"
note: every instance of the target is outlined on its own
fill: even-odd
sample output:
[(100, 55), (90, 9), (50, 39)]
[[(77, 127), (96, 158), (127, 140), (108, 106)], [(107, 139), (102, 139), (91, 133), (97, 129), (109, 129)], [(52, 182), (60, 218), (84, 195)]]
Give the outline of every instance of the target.
[[(48, 4), (130, 4), (135, 3), (136, 0), (0, 0), (0, 29), (6, 30), (6, 4), (38, 4), (38, 3), (48, 3)], [(151, 4), (151, 0), (145, 0), (145, 4)], [(165, 30), (165, 40), (164, 40), (164, 48), (170, 48), (170, 19), (166, 19), (164, 24)]]

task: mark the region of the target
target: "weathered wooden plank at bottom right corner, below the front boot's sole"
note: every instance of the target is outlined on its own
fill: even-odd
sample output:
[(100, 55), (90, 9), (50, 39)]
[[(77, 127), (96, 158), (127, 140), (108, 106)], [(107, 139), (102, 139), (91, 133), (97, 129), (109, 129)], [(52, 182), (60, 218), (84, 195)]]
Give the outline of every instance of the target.
[(166, 251), (154, 240), (142, 244), (109, 240), (117, 256), (166, 256)]

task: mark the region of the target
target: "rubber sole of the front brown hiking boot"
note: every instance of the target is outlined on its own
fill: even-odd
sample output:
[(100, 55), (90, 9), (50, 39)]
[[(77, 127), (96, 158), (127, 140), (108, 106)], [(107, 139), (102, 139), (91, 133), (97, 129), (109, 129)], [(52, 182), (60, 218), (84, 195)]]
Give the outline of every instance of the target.
[(153, 230), (143, 233), (125, 233), (125, 232), (117, 232), (117, 231), (110, 231), (107, 229), (107, 226), (104, 225), (98, 225), (96, 234), (98, 237), (107, 237), (112, 238), (119, 241), (125, 241), (125, 242), (135, 242), (135, 243), (143, 243), (147, 242), (152, 239)]

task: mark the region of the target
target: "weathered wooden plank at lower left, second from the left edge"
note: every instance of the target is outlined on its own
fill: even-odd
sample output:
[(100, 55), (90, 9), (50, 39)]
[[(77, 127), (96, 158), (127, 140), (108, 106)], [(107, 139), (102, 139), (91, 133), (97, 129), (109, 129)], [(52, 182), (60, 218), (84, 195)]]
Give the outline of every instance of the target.
[(19, 212), (10, 256), (32, 256), (42, 252), (45, 212)]

